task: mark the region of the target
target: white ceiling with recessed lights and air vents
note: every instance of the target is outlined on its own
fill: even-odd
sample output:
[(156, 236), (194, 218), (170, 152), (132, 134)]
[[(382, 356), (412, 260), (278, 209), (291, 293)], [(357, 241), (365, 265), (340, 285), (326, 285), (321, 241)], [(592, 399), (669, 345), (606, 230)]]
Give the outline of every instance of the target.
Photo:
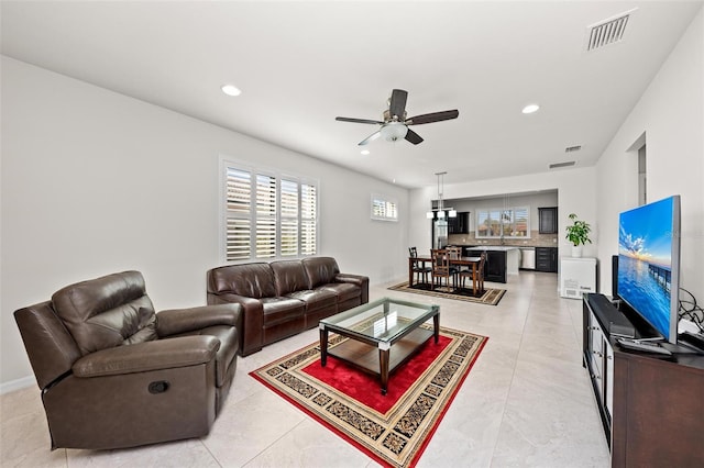
[[(1, 38), (8, 56), (411, 188), (594, 165), (702, 3), (3, 0)], [(585, 52), (588, 25), (632, 9), (624, 41)], [(381, 120), (393, 88), (408, 115), (460, 116), (363, 156), (376, 126), (334, 118)]]

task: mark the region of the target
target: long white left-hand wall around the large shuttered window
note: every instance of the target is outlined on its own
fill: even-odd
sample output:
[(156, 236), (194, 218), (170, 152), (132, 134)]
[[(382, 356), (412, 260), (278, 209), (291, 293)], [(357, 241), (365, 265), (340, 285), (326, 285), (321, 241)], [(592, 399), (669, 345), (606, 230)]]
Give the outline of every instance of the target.
[[(319, 254), (343, 271), (406, 272), (406, 189), (8, 57), (1, 91), (6, 389), (31, 375), (12, 312), (63, 286), (138, 269), (157, 310), (205, 304), (220, 155), (317, 178)], [(396, 199), (400, 222), (371, 221), (371, 193)]]

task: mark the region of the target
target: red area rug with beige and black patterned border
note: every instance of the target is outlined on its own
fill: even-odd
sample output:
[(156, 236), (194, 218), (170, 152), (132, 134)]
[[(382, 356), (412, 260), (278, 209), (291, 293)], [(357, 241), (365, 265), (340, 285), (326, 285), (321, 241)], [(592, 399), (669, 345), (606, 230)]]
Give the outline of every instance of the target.
[[(329, 347), (346, 339), (332, 334)], [(409, 467), (420, 458), (487, 339), (441, 327), (437, 345), (429, 339), (392, 374), (386, 395), (381, 394), (378, 377), (332, 356), (321, 367), (318, 343), (250, 375), (381, 465)]]

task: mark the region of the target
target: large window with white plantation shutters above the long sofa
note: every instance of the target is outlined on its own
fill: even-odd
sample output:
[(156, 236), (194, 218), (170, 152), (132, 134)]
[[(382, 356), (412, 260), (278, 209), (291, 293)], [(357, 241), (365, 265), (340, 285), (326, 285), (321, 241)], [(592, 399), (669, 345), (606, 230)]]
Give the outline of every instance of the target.
[(221, 170), (226, 261), (317, 254), (317, 183), (224, 159)]

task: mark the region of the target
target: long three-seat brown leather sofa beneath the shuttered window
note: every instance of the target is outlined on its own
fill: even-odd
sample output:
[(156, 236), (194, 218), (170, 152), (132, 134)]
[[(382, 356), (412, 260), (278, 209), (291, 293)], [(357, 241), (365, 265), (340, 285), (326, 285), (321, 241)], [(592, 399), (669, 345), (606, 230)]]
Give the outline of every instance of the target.
[(369, 278), (341, 274), (332, 257), (229, 265), (208, 271), (208, 303), (243, 308), (240, 354), (318, 326), (369, 302)]

